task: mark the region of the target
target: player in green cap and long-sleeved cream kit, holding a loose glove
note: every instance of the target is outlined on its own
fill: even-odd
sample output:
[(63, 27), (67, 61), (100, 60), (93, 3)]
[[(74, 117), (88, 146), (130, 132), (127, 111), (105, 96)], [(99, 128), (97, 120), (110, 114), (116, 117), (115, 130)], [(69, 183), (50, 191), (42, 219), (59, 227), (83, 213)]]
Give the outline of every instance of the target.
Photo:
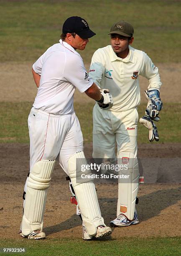
[[(139, 75), (148, 79), (145, 91), (148, 105), (140, 123), (148, 128), (149, 141), (159, 140), (158, 131), (153, 121), (158, 121), (162, 108), (160, 99), (161, 80), (158, 68), (143, 51), (130, 46), (133, 43), (133, 26), (123, 20), (115, 23), (111, 30), (111, 45), (94, 52), (89, 70), (89, 77), (103, 90), (108, 90), (113, 97), (112, 108), (99, 102), (93, 109), (93, 158), (116, 159), (117, 164), (126, 165), (119, 170), (119, 177), (127, 174), (128, 178), (118, 178), (117, 218), (110, 224), (115, 227), (137, 224), (138, 214), (135, 209), (138, 193), (139, 168), (137, 159), (137, 126), (140, 104)], [(104, 89), (105, 88), (105, 89)]]

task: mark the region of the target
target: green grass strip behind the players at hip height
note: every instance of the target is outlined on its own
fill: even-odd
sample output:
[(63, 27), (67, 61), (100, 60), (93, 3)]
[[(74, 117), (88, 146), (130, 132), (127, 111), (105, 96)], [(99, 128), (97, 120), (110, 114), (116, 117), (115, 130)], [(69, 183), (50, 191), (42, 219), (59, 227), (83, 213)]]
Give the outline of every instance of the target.
[[(94, 101), (92, 101), (94, 102)], [(74, 104), (76, 115), (79, 118), (84, 142), (92, 142), (92, 108), (94, 103)], [(32, 102), (0, 102), (0, 143), (29, 143), (28, 114)], [(159, 143), (181, 143), (181, 105), (166, 103), (161, 111), (161, 120), (156, 123), (160, 136)], [(139, 117), (145, 113), (145, 104), (138, 108)], [(138, 124), (138, 143), (150, 143), (148, 130)], [(158, 142), (153, 142), (158, 143)]]

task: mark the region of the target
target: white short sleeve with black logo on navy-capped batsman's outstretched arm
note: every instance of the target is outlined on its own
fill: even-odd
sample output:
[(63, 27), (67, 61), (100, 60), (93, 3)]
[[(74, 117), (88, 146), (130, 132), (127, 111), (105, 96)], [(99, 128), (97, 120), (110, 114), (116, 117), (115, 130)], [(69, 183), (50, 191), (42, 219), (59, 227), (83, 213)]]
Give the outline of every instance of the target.
[(84, 67), (83, 60), (78, 54), (67, 56), (64, 69), (64, 78), (71, 82), (80, 92), (85, 92), (92, 86), (93, 81)]

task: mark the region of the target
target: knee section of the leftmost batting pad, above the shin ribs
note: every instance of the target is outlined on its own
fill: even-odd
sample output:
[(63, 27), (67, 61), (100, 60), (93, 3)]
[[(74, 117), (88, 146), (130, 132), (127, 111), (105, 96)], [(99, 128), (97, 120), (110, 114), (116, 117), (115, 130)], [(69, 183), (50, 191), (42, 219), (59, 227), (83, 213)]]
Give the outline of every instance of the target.
[(36, 162), (29, 174), (27, 187), (33, 189), (48, 189), (54, 165), (55, 160), (42, 160)]

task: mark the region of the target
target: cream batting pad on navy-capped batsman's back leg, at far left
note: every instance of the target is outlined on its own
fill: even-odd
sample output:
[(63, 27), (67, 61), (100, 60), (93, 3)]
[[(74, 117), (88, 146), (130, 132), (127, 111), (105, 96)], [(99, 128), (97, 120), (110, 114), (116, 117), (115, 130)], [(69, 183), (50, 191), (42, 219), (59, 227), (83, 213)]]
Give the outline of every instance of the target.
[(42, 160), (35, 163), (31, 169), (27, 182), (22, 220), (22, 233), (24, 236), (28, 236), (34, 230), (43, 230), (47, 189), (50, 187), (54, 165), (55, 160)]

